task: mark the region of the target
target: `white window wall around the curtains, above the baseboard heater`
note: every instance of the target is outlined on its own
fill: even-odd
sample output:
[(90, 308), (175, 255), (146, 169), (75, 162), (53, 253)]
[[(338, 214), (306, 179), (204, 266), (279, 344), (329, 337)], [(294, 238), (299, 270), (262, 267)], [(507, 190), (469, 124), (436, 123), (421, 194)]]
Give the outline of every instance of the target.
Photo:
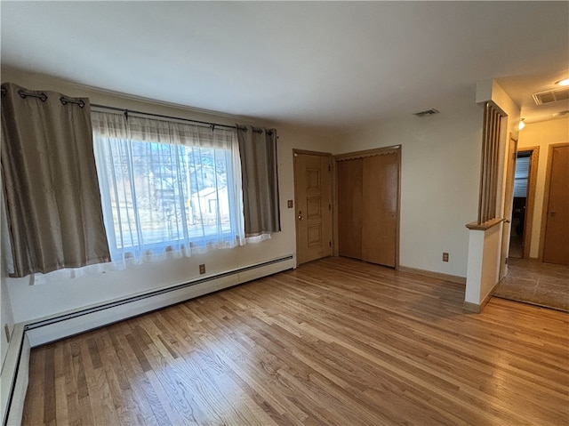
[[(20, 84), (28, 89), (54, 90), (68, 96), (87, 96), (92, 103), (120, 108), (138, 109), (228, 125), (234, 125), (236, 122), (262, 125), (262, 123), (247, 120), (244, 117), (212, 115), (203, 111), (174, 108), (157, 102), (129, 99), (117, 96), (115, 93), (95, 91), (49, 76), (23, 73), (13, 69), (4, 68), (2, 80), (3, 82)], [(331, 139), (320, 133), (310, 133), (306, 130), (291, 129), (284, 126), (277, 126), (277, 133), (279, 135), (278, 173), (282, 232), (257, 245), (213, 251), (204, 255), (157, 264), (144, 264), (133, 269), (111, 271), (104, 275), (86, 275), (46, 285), (28, 285), (27, 278), (6, 278), (5, 285), (12, 302), (14, 321), (17, 323), (30, 321), (145, 293), (164, 286), (185, 283), (200, 277), (198, 270), (200, 263), (205, 263), (207, 275), (213, 275), (295, 253), (294, 209), (286, 208), (286, 200), (294, 198), (293, 148), (326, 150)], [(5, 300), (7, 301), (8, 298)], [(6, 303), (6, 306), (9, 307), (10, 303)]]

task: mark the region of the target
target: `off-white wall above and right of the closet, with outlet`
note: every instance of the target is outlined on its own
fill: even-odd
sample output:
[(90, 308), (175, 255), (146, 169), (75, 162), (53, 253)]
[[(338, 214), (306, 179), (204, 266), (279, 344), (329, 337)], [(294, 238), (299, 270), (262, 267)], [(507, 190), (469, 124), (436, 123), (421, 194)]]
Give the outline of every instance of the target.
[(433, 107), (440, 114), (415, 117), (410, 111), (345, 134), (336, 153), (400, 144), (400, 265), (466, 277), (465, 224), (477, 216), (483, 110), (474, 92)]

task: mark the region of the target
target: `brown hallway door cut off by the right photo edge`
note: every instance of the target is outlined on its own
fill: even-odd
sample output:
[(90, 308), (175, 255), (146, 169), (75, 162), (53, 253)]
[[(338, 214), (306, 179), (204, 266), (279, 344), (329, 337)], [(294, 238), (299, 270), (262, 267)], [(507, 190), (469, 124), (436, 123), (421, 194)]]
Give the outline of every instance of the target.
[(552, 148), (542, 260), (569, 265), (569, 146)]

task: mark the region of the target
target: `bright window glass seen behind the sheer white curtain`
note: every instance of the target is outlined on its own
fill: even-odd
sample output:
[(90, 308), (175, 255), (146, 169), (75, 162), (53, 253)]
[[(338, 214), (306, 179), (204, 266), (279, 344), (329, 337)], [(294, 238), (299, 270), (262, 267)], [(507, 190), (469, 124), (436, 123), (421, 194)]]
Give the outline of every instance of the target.
[(203, 245), (231, 236), (227, 149), (105, 141), (118, 249), (182, 240)]

